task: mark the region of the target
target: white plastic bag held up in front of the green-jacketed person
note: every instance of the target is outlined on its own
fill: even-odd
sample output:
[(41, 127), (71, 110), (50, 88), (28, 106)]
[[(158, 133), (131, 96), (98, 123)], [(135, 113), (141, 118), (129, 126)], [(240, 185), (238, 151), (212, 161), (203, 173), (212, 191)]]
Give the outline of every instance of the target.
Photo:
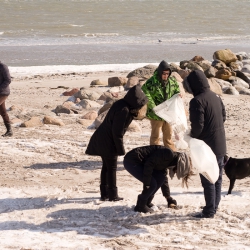
[(184, 134), (187, 131), (187, 117), (184, 103), (179, 94), (153, 108), (154, 112), (168, 122), (175, 135), (175, 146), (178, 149), (187, 149), (188, 143), (184, 140)]

